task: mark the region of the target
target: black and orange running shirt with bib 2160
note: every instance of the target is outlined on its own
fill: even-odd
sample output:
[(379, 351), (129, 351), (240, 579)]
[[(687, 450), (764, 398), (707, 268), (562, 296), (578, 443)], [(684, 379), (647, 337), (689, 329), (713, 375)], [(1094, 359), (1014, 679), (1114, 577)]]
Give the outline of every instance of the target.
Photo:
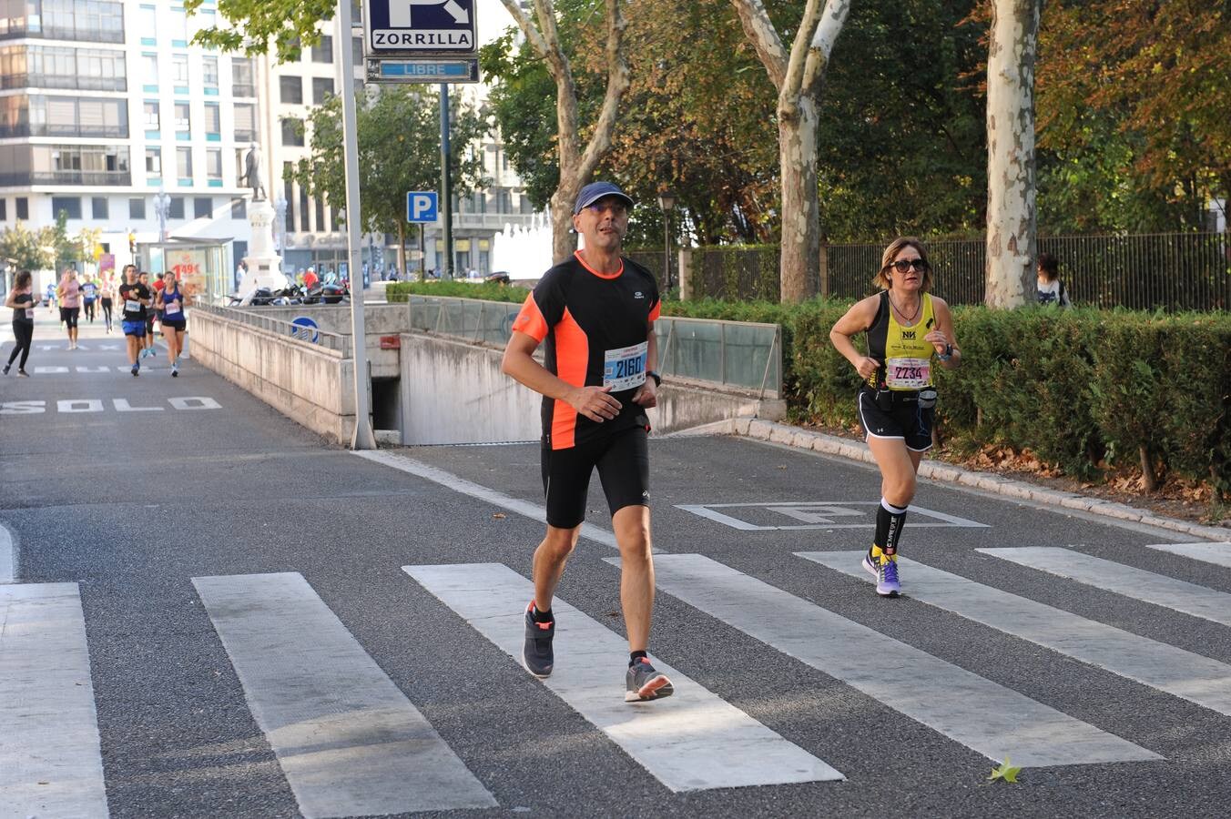
[(513, 330), (543, 343), (547, 369), (574, 386), (611, 386), (619, 414), (591, 421), (543, 396), (543, 441), (569, 449), (630, 427), (649, 427), (633, 395), (645, 384), (650, 323), (659, 317), (654, 275), (622, 258), (617, 273), (586, 267), (580, 253), (548, 271), (526, 298)]

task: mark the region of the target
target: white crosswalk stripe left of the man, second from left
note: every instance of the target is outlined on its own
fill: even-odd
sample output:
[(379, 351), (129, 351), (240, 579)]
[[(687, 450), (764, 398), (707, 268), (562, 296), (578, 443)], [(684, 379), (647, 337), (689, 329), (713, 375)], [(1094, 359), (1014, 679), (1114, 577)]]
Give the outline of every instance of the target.
[(302, 576), (192, 583), (304, 817), (496, 807)]

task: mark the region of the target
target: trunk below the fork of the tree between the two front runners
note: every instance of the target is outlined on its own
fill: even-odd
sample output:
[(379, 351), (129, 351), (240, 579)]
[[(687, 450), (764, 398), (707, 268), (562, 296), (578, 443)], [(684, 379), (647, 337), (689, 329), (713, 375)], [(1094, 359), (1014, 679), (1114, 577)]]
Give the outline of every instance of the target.
[[(792, 116), (793, 114), (793, 116)], [(778, 156), (782, 167), (780, 298), (799, 304), (821, 283), (821, 223), (816, 202), (816, 125), (819, 103), (798, 98), (793, 112), (778, 106)]]

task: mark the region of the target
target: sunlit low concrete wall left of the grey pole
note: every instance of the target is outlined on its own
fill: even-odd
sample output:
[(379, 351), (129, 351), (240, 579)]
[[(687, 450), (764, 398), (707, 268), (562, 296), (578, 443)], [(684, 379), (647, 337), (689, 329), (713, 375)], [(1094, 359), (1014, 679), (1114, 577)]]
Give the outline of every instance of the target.
[(188, 321), (193, 362), (313, 432), (350, 443), (355, 434), (352, 359), (204, 311), (190, 311)]

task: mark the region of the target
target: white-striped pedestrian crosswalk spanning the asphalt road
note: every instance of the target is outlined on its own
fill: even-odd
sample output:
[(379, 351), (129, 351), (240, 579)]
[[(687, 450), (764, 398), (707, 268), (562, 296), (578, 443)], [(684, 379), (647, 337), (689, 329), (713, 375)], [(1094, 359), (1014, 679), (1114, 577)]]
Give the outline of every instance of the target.
[[(980, 551), (1046, 572), (1050, 582), (1072, 589), (1088, 587), (1097, 572), (1099, 588), (1160, 606), (1160, 616), (1181, 612), (1215, 628), (1231, 625), (1224, 616), (1227, 595), (1217, 589), (1075, 550)], [(1216, 550), (1178, 553), (1209, 561)], [(742, 632), (783, 662), (848, 686), (852, 696), (867, 698), (868, 708), (897, 712), (921, 730), (990, 760), (1008, 756), (1028, 767), (1165, 761), (1167, 751), (1152, 734), (1096, 724), (1099, 718), (1089, 712), (1066, 713), (1029, 684), (993, 681), (979, 667), (940, 659), (840, 614), (841, 594), (851, 588), (846, 576), (868, 582), (862, 552), (796, 555), (789, 558), (799, 566), (793, 579), (809, 584), (808, 599), (703, 555), (656, 555), (656, 584), (691, 617)], [(618, 564), (618, 558), (606, 560)], [(904, 594), (924, 604), (921, 610), (956, 615), (1006, 639), (1231, 716), (1229, 664), (1032, 600), (1017, 587), (1011, 592), (979, 583), (922, 561), (902, 558), (901, 564)], [(459, 627), (490, 643), (476, 643), (490, 648), (485, 663), (519, 660), (523, 610), (532, 595), (527, 566), (401, 569), (398, 577), (407, 590), (431, 595), (421, 605), (438, 606), (442, 616), (455, 617)], [(592, 571), (598, 569), (601, 563)], [(192, 588), (302, 815), (515, 807), (503, 801), (490, 771), (468, 766), (465, 754), (451, 748), (411, 701), (411, 686), (390, 678), (379, 654), (356, 639), (353, 626), (302, 574), (203, 576), (192, 578)], [(675, 681), (676, 696), (625, 703), (619, 681), (627, 643), (580, 603), (555, 601), (560, 659), (542, 682), (544, 692), (553, 707), (579, 716), (596, 737), (635, 761), (648, 782), (686, 793), (800, 783), (841, 788), (852, 776), (849, 762), (840, 771), (826, 761), (842, 756), (841, 737), (801, 735), (763, 713), (755, 717), (747, 705), (724, 698), (720, 692), (728, 689), (709, 681), (704, 670), (681, 670), (696, 668), (689, 649), (655, 654), (656, 667)], [(0, 817), (108, 813), (107, 745), (100, 744), (86, 626), (76, 584), (0, 585)], [(423, 670), (433, 673), (432, 667)], [(459, 705), (464, 711), (465, 703)], [(872, 742), (890, 756), (908, 751), (904, 743), (910, 739)]]

